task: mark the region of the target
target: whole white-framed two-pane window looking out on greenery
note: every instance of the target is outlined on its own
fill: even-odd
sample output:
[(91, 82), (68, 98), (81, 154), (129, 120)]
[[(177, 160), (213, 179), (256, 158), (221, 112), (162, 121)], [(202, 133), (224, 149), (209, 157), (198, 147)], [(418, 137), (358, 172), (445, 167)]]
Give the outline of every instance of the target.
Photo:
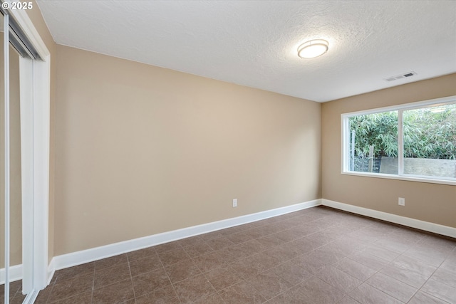
[(456, 96), (341, 115), (342, 173), (456, 184)]

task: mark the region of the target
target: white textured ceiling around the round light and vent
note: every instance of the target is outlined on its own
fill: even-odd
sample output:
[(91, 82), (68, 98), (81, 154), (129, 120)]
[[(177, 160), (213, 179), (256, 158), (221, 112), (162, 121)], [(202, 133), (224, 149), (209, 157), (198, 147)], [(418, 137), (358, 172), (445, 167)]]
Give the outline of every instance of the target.
[[(456, 72), (456, 1), (38, 6), (56, 43), (318, 102)], [(312, 38), (329, 41), (328, 53), (296, 56)], [(410, 71), (417, 75), (384, 80)]]

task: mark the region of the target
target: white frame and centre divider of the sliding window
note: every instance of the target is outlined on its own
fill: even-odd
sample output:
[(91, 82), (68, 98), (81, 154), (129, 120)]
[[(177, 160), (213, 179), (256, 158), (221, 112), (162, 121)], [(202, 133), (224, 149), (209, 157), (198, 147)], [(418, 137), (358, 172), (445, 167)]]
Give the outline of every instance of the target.
[(356, 175), (361, 177), (376, 177), (383, 179), (400, 179), (411, 182), (428, 182), (433, 184), (449, 184), (456, 185), (455, 179), (446, 179), (444, 177), (427, 177), (427, 176), (418, 176), (413, 174), (404, 174), (404, 162), (403, 162), (403, 127), (398, 127), (398, 174), (384, 174), (384, 173), (371, 173), (371, 172), (357, 172), (350, 170), (350, 154), (349, 154), (349, 145), (350, 145), (350, 127), (348, 125), (348, 119), (353, 116), (358, 115), (368, 115), (379, 112), (390, 112), (398, 111), (398, 125), (403, 125), (403, 111), (404, 110), (413, 110), (418, 108), (428, 107), (430, 105), (440, 106), (447, 103), (456, 102), (456, 95), (445, 97), (445, 98), (436, 98), (432, 100), (423, 100), (416, 103), (405, 103), (403, 105), (394, 105), (384, 108), (375, 108), (371, 110), (362, 110), (357, 112), (348, 112), (341, 114), (341, 174), (346, 175)]

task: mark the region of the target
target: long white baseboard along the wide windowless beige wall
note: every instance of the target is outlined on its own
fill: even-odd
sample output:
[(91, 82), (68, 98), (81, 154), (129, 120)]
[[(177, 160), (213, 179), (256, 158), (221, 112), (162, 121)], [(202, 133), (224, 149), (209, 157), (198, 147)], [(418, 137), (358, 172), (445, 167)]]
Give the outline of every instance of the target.
[[(321, 199), (313, 201), (306, 201), (301, 204), (294, 204), (277, 209), (261, 211), (255, 214), (247, 214), (244, 216), (235, 217), (232, 219), (224, 219), (222, 221), (214, 221), (212, 223), (188, 227), (185, 229), (178, 229), (174, 231), (164, 232), (162, 234), (154, 234), (152, 236), (145, 236), (139, 239), (132, 239), (129, 241), (122, 241), (119, 243), (112, 243), (106, 246), (86, 249), (83, 251), (76, 251), (73, 253), (63, 254), (61, 256), (54, 256), (51, 261), (48, 273), (51, 274), (55, 270), (68, 268), (71, 266), (81, 265), (91, 261), (100, 260), (102, 258), (109, 258), (110, 256), (117, 256), (118, 254), (135, 251), (138, 249), (185, 239), (190, 236), (197, 236), (199, 234), (206, 234), (208, 232), (226, 229), (232, 226), (251, 223), (252, 221), (259, 221), (261, 219), (269, 219), (273, 216), (279, 216), (290, 212), (307, 209), (321, 204)], [(52, 278), (52, 276), (51, 276)]]

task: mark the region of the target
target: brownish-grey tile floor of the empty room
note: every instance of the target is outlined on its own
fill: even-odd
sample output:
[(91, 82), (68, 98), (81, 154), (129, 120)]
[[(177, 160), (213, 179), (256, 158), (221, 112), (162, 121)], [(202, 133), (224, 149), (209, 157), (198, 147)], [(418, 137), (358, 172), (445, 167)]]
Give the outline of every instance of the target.
[(456, 303), (456, 240), (318, 206), (56, 271), (36, 303)]

